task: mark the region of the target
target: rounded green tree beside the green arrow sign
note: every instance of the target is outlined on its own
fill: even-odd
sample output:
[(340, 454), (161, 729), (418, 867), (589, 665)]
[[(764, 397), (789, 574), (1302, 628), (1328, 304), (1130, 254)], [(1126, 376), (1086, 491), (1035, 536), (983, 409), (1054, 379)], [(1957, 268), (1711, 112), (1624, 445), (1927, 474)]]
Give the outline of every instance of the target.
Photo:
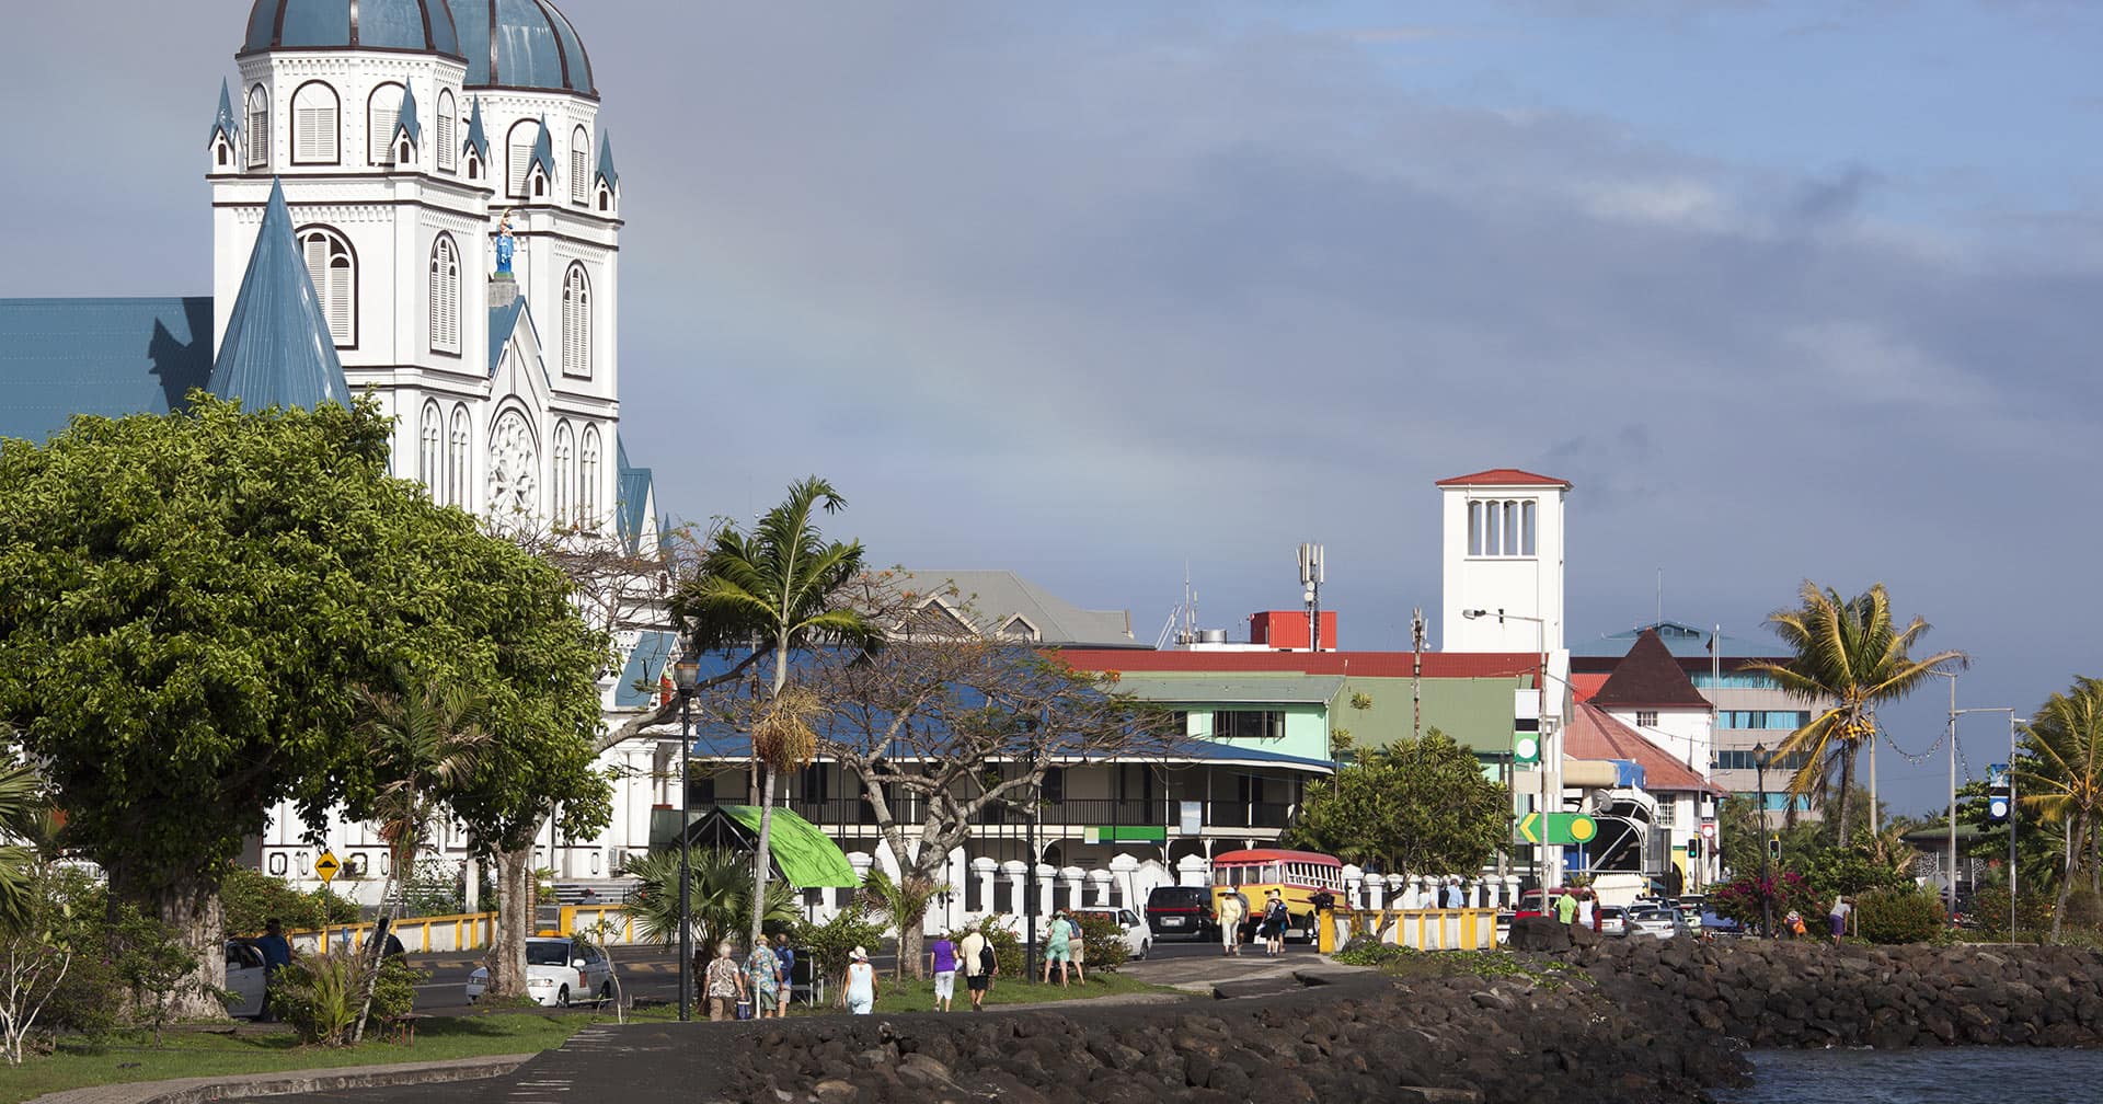
[(1504, 791), (1432, 728), (1363, 753), (1333, 786), (1310, 786), (1285, 841), (1386, 873), (1472, 875), (1510, 833)]

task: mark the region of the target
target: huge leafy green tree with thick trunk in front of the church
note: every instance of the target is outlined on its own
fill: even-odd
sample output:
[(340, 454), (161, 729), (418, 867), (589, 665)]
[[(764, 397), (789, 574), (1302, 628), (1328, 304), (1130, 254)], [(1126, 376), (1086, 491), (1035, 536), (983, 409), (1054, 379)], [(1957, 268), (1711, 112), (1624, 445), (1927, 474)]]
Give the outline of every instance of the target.
[[(183, 932), (200, 990), (223, 984), (219, 877), (267, 810), (376, 807), (387, 778), (345, 688), (406, 667), (490, 696), (505, 742), (553, 732), (591, 755), (604, 639), (555, 568), (391, 479), (389, 433), (372, 402), (242, 412), (193, 393), (0, 444), (0, 719), (67, 845)], [(507, 763), (475, 786), (540, 782)]]

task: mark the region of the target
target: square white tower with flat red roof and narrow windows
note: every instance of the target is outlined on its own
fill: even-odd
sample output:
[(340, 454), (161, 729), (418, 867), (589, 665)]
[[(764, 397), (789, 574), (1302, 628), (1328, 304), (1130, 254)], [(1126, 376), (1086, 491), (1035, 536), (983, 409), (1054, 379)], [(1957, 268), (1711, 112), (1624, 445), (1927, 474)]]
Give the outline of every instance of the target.
[[(1569, 490), (1567, 479), (1512, 467), (1438, 479), (1441, 650), (1563, 650), (1563, 503)], [(1485, 614), (1468, 616), (1470, 610)]]

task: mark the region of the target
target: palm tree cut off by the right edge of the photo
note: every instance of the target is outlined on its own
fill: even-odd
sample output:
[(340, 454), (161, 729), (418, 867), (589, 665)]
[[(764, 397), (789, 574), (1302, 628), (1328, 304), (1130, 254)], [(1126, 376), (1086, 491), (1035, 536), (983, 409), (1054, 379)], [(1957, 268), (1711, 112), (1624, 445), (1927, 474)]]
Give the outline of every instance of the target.
[(2017, 801), (2042, 820), (2067, 826), (2065, 871), (2059, 906), (2053, 908), (2053, 942), (2067, 913), (2074, 873), (2084, 856), (2097, 864), (2097, 807), (2103, 805), (2103, 681), (2080, 677), (2065, 694), (2053, 694), (2025, 725), (2023, 751), (2031, 757), (2010, 765)]

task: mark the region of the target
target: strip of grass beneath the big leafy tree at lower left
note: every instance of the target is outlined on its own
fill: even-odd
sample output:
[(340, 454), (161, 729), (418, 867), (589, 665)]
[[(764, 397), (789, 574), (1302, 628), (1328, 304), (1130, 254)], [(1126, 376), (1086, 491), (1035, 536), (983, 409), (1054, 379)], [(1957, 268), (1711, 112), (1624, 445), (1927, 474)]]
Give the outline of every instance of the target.
[[(646, 1009), (629, 1018), (669, 1018), (669, 1009)], [(599, 1014), (536, 1014), (490, 1011), (482, 1016), (435, 1016), (416, 1024), (416, 1045), (402, 1047), (368, 1039), (358, 1049), (301, 1047), (288, 1030), (263, 1035), (210, 1035), (170, 1030), (166, 1047), (156, 1049), (151, 1035), (116, 1037), (103, 1043), (61, 1039), (59, 1051), (25, 1058), (19, 1068), (0, 1064), (0, 1104), (17, 1104), (34, 1096), (80, 1089), (86, 1085), (120, 1085), (128, 1081), (166, 1081), (175, 1077), (217, 1077), (240, 1072), (288, 1072), (328, 1066), (387, 1066), (391, 1062), (444, 1062), (448, 1058), (482, 1058), (492, 1054), (534, 1054), (559, 1047), (587, 1024), (610, 1022)]]

